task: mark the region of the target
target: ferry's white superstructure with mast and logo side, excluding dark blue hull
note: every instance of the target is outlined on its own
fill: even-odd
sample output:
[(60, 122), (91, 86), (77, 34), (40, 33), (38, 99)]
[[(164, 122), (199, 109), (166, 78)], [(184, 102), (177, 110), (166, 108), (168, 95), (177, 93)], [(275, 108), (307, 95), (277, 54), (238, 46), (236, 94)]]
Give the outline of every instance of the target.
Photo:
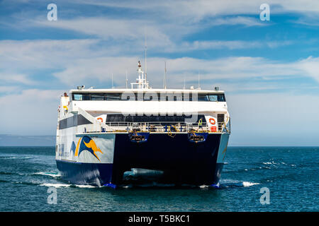
[(147, 145), (163, 135), (185, 134), (195, 143), (218, 135), (217, 163), (223, 162), (230, 134), (230, 114), (224, 91), (151, 88), (140, 61), (138, 78), (131, 83), (131, 88), (85, 89), (79, 86), (61, 97), (58, 112), (56, 160), (59, 170), (68, 177), (67, 169), (59, 166), (63, 162), (113, 165), (116, 141), (120, 137), (125, 139), (123, 134), (130, 136), (129, 141), (149, 142)]

